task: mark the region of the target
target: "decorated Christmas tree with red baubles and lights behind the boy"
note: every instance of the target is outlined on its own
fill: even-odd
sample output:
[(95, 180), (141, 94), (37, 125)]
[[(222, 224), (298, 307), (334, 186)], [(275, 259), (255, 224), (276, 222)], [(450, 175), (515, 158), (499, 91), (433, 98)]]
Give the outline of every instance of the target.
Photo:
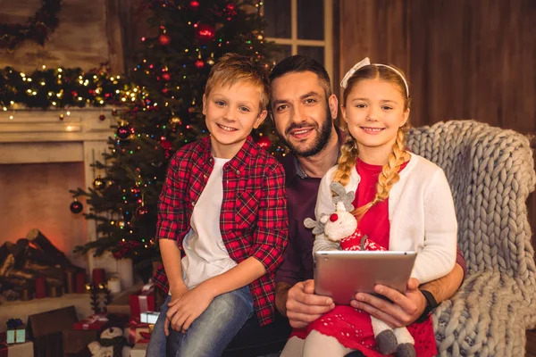
[[(97, 236), (77, 247), (97, 256), (107, 251), (131, 258), (140, 272), (159, 259), (156, 204), (172, 154), (182, 145), (208, 135), (202, 111), (207, 75), (225, 53), (247, 55), (267, 71), (272, 43), (264, 40), (260, 1), (145, 1), (155, 33), (141, 38), (138, 65), (129, 73), (136, 85), (130, 100), (113, 115), (117, 125), (110, 152), (95, 163), (97, 177), (88, 190), (88, 220)], [(272, 154), (282, 154), (270, 123), (256, 130), (255, 140)], [(73, 205), (75, 207), (73, 207)], [(71, 211), (81, 211), (80, 203)]]

